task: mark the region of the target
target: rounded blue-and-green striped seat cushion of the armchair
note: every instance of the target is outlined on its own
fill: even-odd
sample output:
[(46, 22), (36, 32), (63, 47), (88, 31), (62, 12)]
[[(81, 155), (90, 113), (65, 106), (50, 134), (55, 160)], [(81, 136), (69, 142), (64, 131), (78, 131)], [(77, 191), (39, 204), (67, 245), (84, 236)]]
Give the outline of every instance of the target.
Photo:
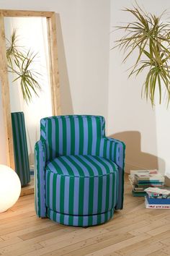
[(118, 168), (106, 158), (61, 156), (48, 163), (45, 175), (46, 206), (54, 212), (89, 216), (117, 203)]

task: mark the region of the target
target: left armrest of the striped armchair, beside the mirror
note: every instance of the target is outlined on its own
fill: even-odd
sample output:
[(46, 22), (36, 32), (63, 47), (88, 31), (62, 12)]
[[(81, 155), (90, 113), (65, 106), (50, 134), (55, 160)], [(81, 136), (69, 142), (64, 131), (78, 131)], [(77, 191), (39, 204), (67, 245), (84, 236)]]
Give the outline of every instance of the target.
[(45, 142), (39, 140), (35, 144), (35, 210), (39, 217), (46, 216), (45, 163)]

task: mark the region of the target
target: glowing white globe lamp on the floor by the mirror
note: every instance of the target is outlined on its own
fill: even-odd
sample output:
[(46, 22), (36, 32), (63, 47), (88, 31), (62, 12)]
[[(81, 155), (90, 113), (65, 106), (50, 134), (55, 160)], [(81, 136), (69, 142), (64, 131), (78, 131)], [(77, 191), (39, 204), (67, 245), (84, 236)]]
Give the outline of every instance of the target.
[(0, 164), (0, 213), (14, 205), (17, 202), (21, 192), (21, 182), (17, 173)]

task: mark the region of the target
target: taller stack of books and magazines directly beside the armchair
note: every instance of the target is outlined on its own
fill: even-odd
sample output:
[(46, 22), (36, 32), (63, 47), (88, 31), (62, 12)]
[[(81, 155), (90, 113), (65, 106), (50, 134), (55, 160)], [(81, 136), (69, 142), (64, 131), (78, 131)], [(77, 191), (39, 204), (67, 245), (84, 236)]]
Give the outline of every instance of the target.
[(135, 197), (146, 196), (148, 187), (164, 187), (164, 176), (157, 170), (132, 170), (129, 175), (132, 192)]

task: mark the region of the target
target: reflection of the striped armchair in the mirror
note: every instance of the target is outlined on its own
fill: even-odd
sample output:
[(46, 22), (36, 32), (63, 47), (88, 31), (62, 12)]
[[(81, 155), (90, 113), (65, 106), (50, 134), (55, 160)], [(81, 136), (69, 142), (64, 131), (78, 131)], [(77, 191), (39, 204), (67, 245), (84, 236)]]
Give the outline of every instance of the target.
[(12, 133), (15, 171), (19, 176), (22, 186), (24, 186), (30, 182), (30, 166), (23, 112), (12, 113)]

